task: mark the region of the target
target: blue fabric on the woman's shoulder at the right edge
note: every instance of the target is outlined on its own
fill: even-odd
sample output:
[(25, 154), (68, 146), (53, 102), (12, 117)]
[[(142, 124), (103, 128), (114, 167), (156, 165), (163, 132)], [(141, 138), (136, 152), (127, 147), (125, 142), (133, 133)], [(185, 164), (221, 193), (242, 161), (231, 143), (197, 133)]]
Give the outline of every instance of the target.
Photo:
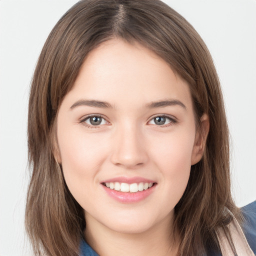
[(256, 253), (256, 201), (241, 207), (244, 221), (241, 224), (246, 240), (254, 253)]

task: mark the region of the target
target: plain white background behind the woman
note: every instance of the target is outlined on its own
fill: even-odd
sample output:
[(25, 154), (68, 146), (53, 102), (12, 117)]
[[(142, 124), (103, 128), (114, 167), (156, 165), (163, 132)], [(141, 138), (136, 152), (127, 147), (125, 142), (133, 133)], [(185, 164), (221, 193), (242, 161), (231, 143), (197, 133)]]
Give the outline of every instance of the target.
[[(29, 84), (48, 33), (75, 2), (0, 0), (0, 256), (29, 254), (23, 225)], [(233, 196), (245, 205), (256, 199), (256, 0), (165, 2), (212, 53), (232, 137)]]

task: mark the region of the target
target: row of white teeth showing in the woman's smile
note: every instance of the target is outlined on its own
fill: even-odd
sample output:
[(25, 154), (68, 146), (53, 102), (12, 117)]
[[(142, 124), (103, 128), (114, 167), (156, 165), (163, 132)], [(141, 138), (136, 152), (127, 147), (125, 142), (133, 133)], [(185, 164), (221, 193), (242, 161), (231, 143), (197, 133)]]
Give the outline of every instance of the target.
[(153, 185), (155, 185), (155, 182), (139, 182), (139, 183), (124, 183), (124, 182), (104, 182), (102, 183), (107, 188), (121, 191), (121, 192), (130, 192), (130, 193), (136, 193), (138, 191), (147, 190)]

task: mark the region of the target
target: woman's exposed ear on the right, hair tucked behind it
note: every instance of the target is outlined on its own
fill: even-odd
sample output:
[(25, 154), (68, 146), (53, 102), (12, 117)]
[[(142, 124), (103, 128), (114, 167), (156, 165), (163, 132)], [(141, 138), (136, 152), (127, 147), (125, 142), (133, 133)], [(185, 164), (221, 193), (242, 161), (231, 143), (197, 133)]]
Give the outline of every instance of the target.
[(195, 134), (195, 140), (191, 155), (191, 165), (200, 161), (203, 155), (207, 135), (209, 132), (209, 117), (207, 114), (203, 114), (200, 118), (200, 127), (197, 128)]

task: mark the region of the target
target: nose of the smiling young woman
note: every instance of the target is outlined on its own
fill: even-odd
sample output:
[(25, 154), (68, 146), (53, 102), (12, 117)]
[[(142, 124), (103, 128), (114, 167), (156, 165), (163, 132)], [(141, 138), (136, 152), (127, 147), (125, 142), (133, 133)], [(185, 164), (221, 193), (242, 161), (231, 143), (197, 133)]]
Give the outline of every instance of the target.
[(135, 125), (123, 125), (114, 133), (111, 162), (124, 168), (143, 165), (148, 160), (145, 139)]

